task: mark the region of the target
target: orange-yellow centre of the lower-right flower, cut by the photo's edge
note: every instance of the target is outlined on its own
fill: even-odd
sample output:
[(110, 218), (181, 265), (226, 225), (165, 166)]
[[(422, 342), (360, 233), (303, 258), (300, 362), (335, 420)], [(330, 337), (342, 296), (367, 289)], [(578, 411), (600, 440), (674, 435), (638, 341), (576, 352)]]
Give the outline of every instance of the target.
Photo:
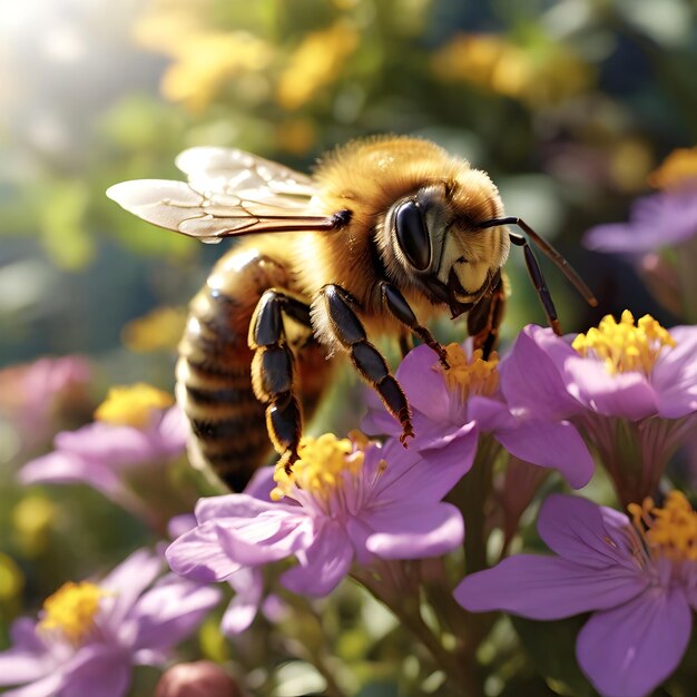
[(647, 498), (628, 509), (649, 550), (675, 561), (697, 560), (697, 512), (683, 493), (671, 491), (664, 508)]

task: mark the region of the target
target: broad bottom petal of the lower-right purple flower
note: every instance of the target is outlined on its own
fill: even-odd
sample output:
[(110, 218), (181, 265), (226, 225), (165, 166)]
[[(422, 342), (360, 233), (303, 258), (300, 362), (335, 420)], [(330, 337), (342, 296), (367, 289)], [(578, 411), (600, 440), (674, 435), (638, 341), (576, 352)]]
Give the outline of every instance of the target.
[(677, 668), (691, 632), (681, 592), (649, 588), (593, 615), (577, 641), (579, 665), (607, 697), (642, 697)]

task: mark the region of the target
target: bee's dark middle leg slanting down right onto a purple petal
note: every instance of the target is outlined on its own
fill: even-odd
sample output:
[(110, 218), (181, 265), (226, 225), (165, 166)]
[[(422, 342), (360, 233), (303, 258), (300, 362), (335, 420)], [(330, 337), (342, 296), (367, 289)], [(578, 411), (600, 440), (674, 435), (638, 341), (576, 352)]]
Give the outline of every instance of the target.
[(367, 341), (365, 327), (354, 310), (356, 302), (347, 291), (338, 285), (326, 285), (322, 288), (322, 301), (316, 312), (324, 313), (330, 337), (338, 342), (347, 352), (355, 369), (363, 379), (377, 392), (387, 411), (402, 425), (400, 441), (406, 444), (413, 438), (411, 411), (400, 383), (390, 372), (384, 356)]

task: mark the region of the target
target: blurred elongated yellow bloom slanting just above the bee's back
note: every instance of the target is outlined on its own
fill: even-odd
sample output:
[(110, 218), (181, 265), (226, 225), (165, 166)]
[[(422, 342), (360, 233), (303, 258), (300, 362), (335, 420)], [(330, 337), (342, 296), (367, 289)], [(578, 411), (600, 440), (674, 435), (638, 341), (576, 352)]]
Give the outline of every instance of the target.
[(347, 20), (337, 20), (326, 29), (308, 33), (281, 73), (276, 88), (278, 104), (292, 111), (332, 82), (359, 46), (360, 36)]

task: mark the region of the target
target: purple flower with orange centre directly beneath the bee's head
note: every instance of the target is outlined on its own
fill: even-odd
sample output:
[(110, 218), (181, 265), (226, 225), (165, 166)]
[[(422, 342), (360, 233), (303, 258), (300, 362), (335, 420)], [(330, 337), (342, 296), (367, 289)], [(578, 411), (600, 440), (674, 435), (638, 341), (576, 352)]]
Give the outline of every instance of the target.
[[(512, 414), (499, 389), (498, 356), (483, 361), (481, 355), (467, 344), (451, 344), (450, 367), (444, 370), (435, 353), (421, 345), (402, 361), (396, 377), (413, 412), (410, 448), (434, 467), (460, 462), (469, 471), (479, 436), (491, 434), (521, 460), (559, 469), (577, 489), (587, 484), (593, 463), (576, 426), (554, 413), (543, 419), (534, 411), (523, 419)], [(362, 428), (369, 434), (400, 433), (397, 422), (372, 395)]]

